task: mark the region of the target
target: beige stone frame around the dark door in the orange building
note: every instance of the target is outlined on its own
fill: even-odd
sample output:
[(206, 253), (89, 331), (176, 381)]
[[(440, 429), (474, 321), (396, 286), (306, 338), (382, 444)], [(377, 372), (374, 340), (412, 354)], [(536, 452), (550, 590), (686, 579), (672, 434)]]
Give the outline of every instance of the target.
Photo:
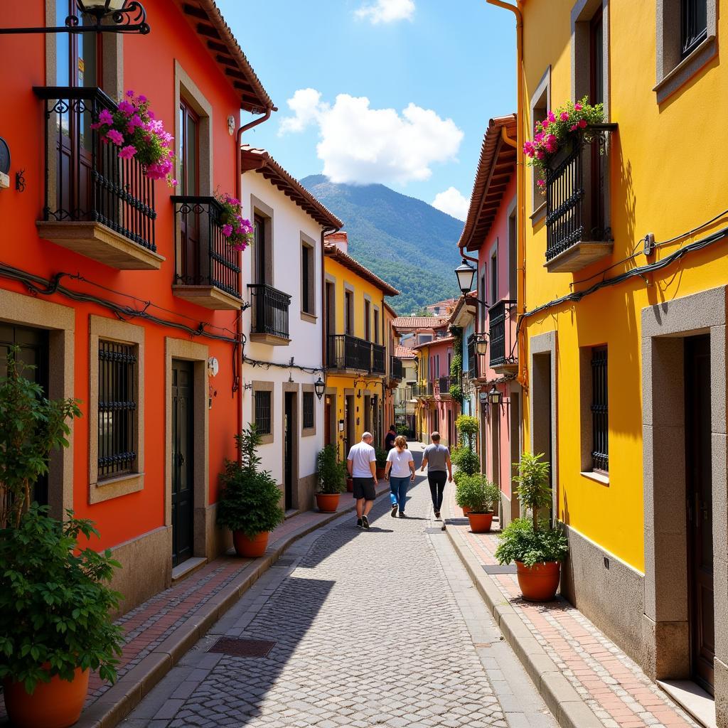
[[(165, 526), (172, 526), (172, 360), (189, 361), (194, 381), (194, 516), (192, 555), (214, 558), (215, 505), (210, 500), (210, 411), (207, 408), (207, 357), (205, 344), (165, 337)], [(200, 432), (202, 430), (202, 432)], [(170, 561), (172, 552), (170, 550)]]

